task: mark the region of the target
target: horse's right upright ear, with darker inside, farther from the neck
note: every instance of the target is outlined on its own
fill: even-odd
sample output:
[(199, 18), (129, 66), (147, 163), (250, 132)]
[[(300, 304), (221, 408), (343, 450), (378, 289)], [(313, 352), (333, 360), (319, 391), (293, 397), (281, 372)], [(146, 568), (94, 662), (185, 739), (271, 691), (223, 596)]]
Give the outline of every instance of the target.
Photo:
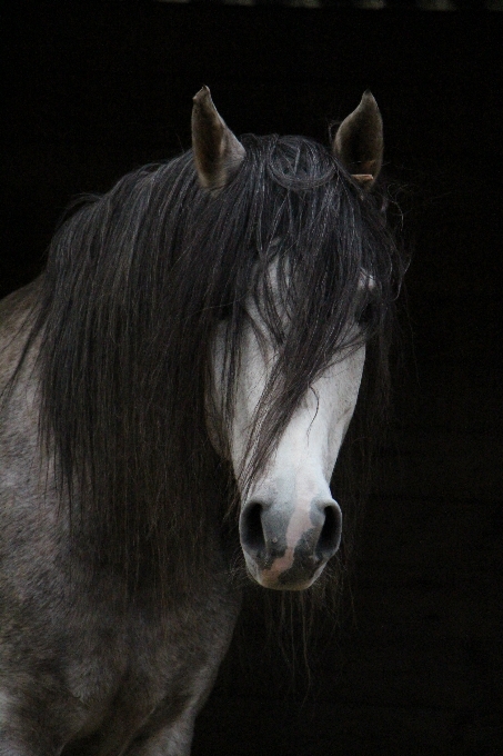
[(366, 90), (356, 110), (339, 127), (332, 149), (353, 179), (370, 189), (381, 170), (383, 147), (381, 113)]

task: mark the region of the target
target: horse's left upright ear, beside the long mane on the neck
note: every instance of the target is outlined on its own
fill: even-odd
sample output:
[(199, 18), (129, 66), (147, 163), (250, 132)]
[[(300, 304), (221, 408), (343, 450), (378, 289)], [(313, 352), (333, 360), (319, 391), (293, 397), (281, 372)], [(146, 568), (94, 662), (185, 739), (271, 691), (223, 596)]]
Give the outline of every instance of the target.
[(208, 87), (193, 98), (192, 149), (199, 181), (218, 193), (241, 166), (245, 150), (219, 116)]

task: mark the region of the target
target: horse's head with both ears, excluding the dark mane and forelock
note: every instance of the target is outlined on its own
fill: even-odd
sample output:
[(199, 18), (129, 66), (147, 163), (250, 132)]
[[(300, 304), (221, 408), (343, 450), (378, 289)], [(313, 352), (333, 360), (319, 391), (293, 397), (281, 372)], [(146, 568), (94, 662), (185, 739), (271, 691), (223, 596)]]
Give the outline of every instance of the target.
[[(208, 88), (194, 98), (192, 140), (200, 185), (217, 197), (240, 170), (245, 149), (219, 116)], [(333, 153), (360, 188), (368, 190), (381, 168), (382, 148), (381, 116), (374, 98), (365, 92), (356, 110), (339, 127)], [(268, 263), (256, 275), (255, 295), (242, 302), (244, 326), (223, 441), (219, 440), (217, 426), (224, 411), (230, 360), (225, 345), (231, 326), (225, 319), (215, 335), (211, 404), (217, 409), (209, 419), (209, 432), (219, 452), (232, 462), (238, 481), (240, 540), (250, 576), (266, 588), (302, 590), (320, 576), (341, 543), (342, 514), (330, 481), (356, 405), (365, 359), (358, 314), (373, 285), (372, 277), (360, 271), (353, 317), (344, 325), (345, 335), (336, 355), (313, 376), (276, 434), (275, 444), (256, 465), (268, 414), (286, 390), (284, 386), (279, 388), (278, 340), (264, 318), (264, 310), (272, 306), (284, 330), (289, 330), (291, 314), (279, 280), (282, 277), (283, 282), (288, 281), (290, 272), (274, 246), (280, 249), (281, 238), (273, 240)], [(264, 289), (266, 307), (261, 306)]]

